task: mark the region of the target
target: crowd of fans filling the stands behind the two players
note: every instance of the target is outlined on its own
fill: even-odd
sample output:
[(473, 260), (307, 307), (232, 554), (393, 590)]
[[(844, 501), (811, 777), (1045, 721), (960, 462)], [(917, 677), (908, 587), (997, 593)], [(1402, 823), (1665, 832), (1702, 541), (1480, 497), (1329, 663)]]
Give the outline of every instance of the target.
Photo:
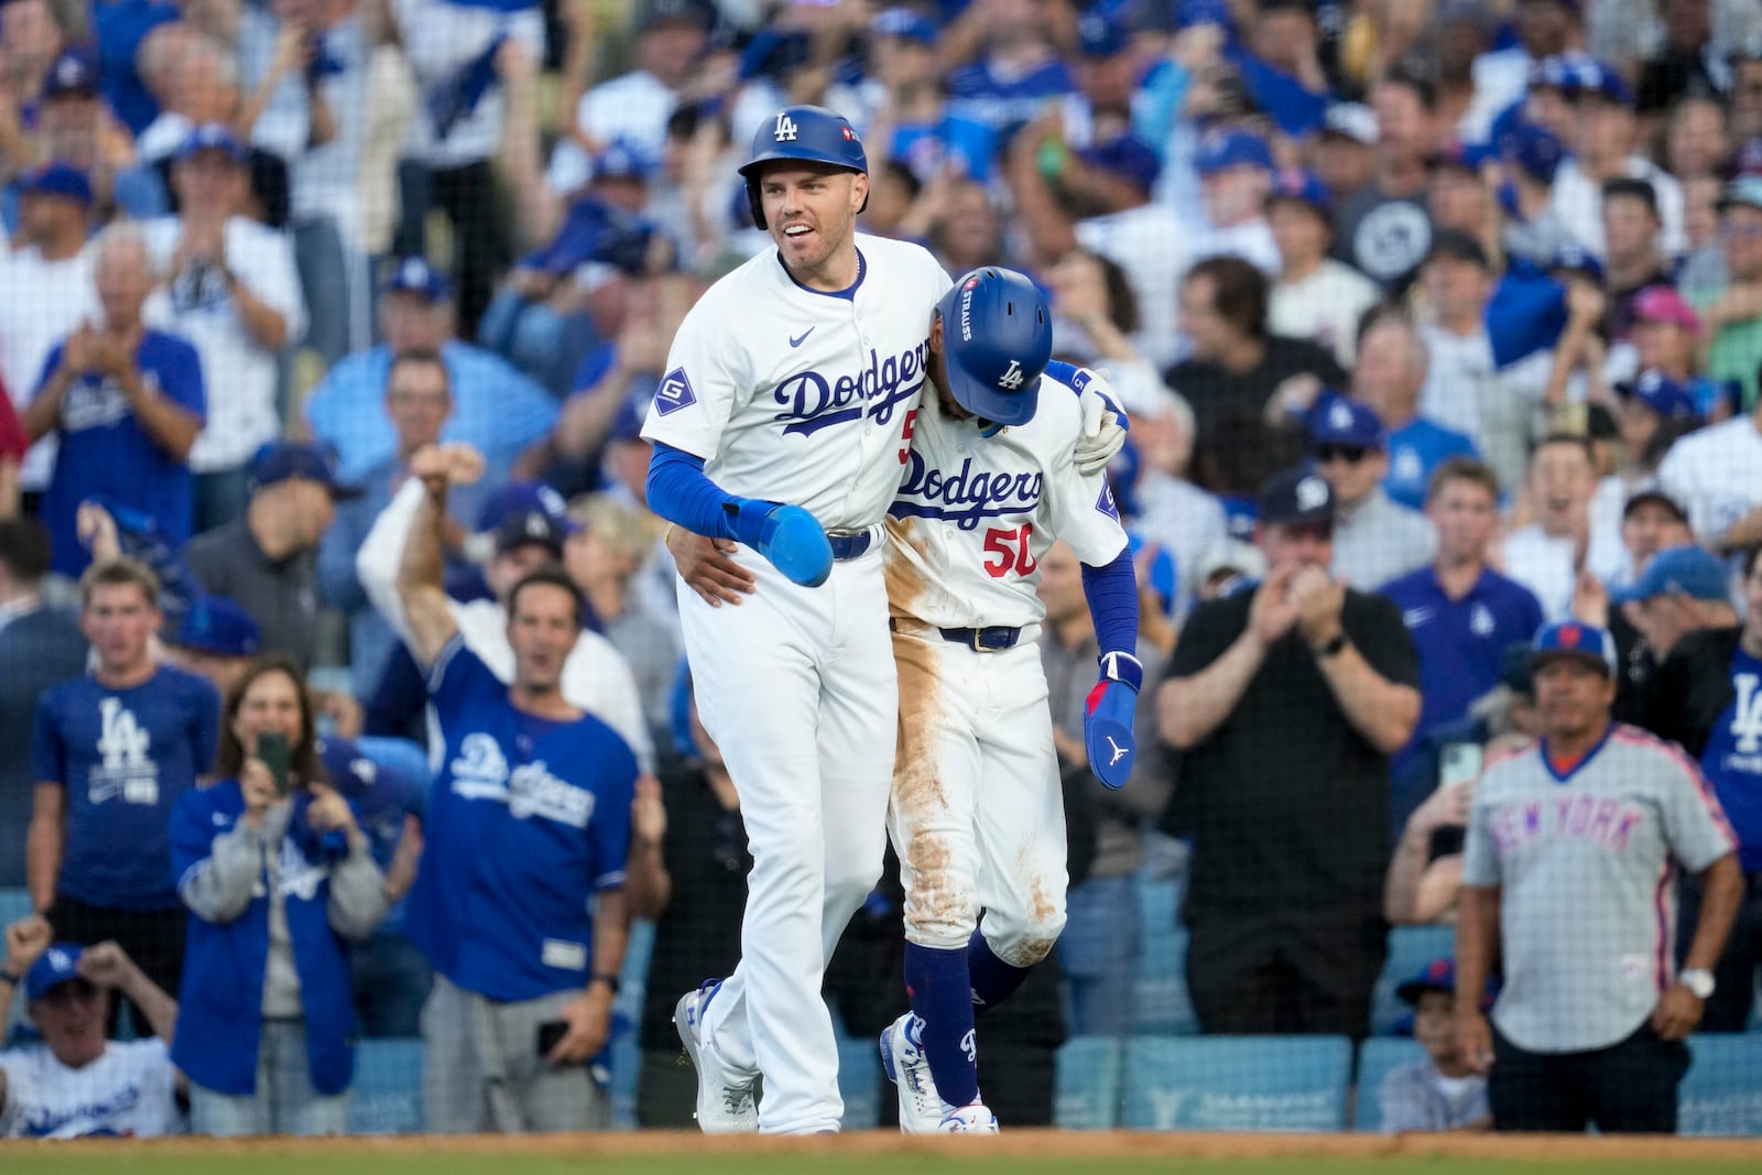
[[(0, 5), (0, 890), (28, 893), (0, 1004), (41, 1038), (0, 1052), (0, 1136), (337, 1133), (358, 1038), (426, 1041), (428, 1129), (604, 1126), (631, 918), (638, 1122), (691, 1122), (668, 1001), (738, 958), (751, 858), (641, 426), (684, 314), (772, 247), (735, 167), (786, 102), (858, 129), (863, 231), (1034, 275), (1131, 416), (1108, 476), (1165, 684), (1101, 787), (1094, 632), (1048, 555), (1073, 884), (987, 1020), (1006, 1124), (1052, 1120), (1066, 1036), (1133, 1031), (1145, 877), (1181, 881), (1200, 1032), (1367, 1036), (1390, 925), (1485, 932), (1487, 839), (1519, 833), (1477, 828), (1477, 784), (1565, 742), (1573, 657), (1544, 654), (1581, 639), (1609, 698), (1575, 705), (1679, 745), (1667, 810), (1716, 800), (1663, 846), (1679, 918), (1647, 879), (1656, 958), (1609, 962), (1670, 1016), (1524, 1036), (1536, 999), (1605, 997), (1524, 971), (1498, 1064), (1579, 1082), (1544, 1060), (1639, 1031), (1655, 1053), (1593, 1069), (1656, 1076), (1750, 1025), (1762, 7), (627, 9)], [(574, 710), (590, 784), (465, 731)], [(465, 784), (430, 794), (442, 757)], [(1584, 900), (1607, 883), (1558, 876), (1507, 967), (1633, 939)], [(828, 972), (853, 1036), (899, 1011), (900, 900)], [(1448, 957), (1401, 987), (1429, 1059), (1387, 1120), (1535, 1126), (1489, 1106), (1487, 957), (1461, 964), (1462, 997)], [(1579, 1124), (1674, 1127), (1612, 1106)]]

